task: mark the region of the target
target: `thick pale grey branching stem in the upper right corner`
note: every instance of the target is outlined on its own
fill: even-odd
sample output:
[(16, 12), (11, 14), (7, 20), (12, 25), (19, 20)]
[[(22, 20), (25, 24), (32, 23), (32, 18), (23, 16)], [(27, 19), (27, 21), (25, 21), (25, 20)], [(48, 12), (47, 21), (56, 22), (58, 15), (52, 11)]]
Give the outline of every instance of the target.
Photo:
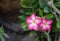
[(60, 15), (60, 10), (55, 7), (55, 5), (53, 4), (53, 1), (54, 0), (50, 0), (50, 2), (46, 1), (46, 3), (48, 3), (47, 5), (53, 9), (53, 11), (51, 11), (51, 13), (54, 14), (56, 21), (59, 21), (57, 13)]

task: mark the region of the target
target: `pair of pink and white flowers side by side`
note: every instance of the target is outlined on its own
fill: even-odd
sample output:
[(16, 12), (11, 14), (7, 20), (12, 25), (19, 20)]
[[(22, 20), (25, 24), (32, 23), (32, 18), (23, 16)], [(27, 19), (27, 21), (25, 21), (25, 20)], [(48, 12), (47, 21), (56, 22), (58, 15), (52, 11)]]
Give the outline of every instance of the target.
[(42, 31), (47, 31), (51, 29), (52, 20), (46, 20), (45, 18), (37, 17), (35, 14), (26, 18), (26, 23), (28, 25), (28, 30), (38, 31), (38, 27)]

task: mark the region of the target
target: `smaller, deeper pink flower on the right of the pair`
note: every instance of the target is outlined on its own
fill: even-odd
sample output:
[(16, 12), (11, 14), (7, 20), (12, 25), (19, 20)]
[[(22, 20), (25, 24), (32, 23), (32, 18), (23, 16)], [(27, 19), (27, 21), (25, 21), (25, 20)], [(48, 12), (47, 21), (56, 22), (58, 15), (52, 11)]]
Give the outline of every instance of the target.
[(52, 26), (52, 20), (42, 19), (39, 26), (42, 31), (49, 31)]

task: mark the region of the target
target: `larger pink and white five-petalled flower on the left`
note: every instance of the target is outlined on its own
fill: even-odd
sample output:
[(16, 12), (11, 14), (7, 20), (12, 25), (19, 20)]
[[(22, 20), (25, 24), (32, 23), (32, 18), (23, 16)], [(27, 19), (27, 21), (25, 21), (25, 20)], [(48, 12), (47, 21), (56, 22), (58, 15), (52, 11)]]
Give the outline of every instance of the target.
[(38, 30), (38, 24), (41, 22), (40, 18), (36, 17), (35, 14), (26, 18), (26, 23), (28, 25), (28, 30)]

